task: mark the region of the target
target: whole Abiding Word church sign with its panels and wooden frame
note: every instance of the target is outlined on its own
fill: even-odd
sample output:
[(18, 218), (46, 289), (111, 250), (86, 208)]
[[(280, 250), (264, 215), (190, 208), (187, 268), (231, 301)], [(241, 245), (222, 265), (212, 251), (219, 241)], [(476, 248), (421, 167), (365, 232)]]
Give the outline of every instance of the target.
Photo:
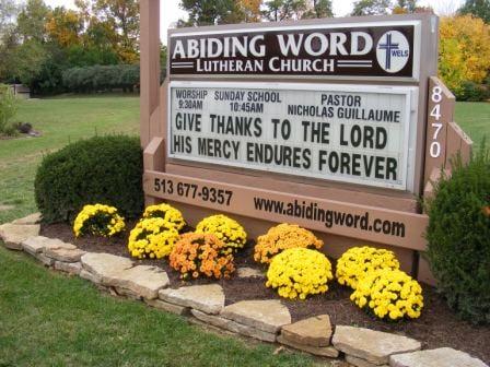
[(295, 223), (332, 257), (372, 245), (417, 272), (420, 198), (471, 146), (436, 78), (438, 17), (170, 29), (160, 85), (159, 3), (141, 2), (147, 203), (165, 200), (190, 225), (228, 213), (253, 238)]

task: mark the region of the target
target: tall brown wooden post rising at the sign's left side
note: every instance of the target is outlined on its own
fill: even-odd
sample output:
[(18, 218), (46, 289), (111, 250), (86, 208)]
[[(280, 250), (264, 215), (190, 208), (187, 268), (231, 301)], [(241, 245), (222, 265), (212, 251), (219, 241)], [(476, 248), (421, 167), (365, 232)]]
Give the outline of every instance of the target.
[(140, 140), (145, 147), (160, 100), (160, 0), (140, 0)]

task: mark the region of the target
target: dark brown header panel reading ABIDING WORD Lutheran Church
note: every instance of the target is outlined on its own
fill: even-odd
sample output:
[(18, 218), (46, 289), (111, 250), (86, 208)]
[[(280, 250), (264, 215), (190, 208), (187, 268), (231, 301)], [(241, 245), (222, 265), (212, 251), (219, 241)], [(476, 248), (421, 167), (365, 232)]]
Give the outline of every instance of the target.
[(418, 80), (420, 22), (258, 27), (170, 35), (173, 75)]

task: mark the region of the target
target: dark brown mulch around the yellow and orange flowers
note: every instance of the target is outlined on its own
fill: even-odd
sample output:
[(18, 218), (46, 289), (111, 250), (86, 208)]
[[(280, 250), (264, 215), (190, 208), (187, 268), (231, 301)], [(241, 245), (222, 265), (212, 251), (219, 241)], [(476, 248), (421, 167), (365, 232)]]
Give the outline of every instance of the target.
[[(132, 228), (133, 224), (127, 223), (128, 228)], [(71, 227), (67, 224), (43, 225), (40, 234), (71, 242), (85, 251), (108, 252), (129, 258), (126, 248), (128, 234), (118, 238), (91, 236), (74, 238)], [(259, 267), (253, 260), (253, 242), (248, 242), (245, 249), (235, 256), (235, 265), (236, 268), (260, 269), (265, 272), (265, 268)], [(354, 306), (349, 299), (350, 288), (340, 286), (336, 282), (329, 283), (329, 289), (325, 295), (313, 296), (306, 300), (292, 301), (280, 298), (276, 292), (267, 288), (264, 284), (264, 279), (238, 279), (233, 276), (223, 281), (195, 280), (184, 282), (180, 281), (179, 274), (170, 268), (166, 260), (136, 260), (136, 262), (156, 265), (165, 270), (172, 287), (218, 282), (224, 288), (226, 305), (244, 299), (281, 299), (289, 308), (293, 321), (328, 313), (334, 324), (357, 325), (407, 335), (421, 341), (423, 348), (448, 346), (467, 352), (471, 356), (490, 364), (490, 327), (472, 325), (457, 319), (444, 299), (438, 295), (435, 288), (425, 284), (422, 284), (424, 308), (419, 319), (385, 322), (369, 316)]]

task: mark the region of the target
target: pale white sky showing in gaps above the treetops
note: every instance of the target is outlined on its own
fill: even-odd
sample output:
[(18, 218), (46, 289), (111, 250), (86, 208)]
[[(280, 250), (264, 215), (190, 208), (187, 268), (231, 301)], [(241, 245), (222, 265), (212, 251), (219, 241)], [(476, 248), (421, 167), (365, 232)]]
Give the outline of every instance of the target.
[[(334, 15), (348, 15), (352, 11), (354, 1), (355, 0), (332, 0)], [(74, 8), (73, 0), (45, 0), (45, 2), (52, 8), (60, 5)], [(186, 17), (186, 12), (178, 7), (179, 0), (161, 0), (160, 3), (160, 38), (162, 39), (162, 43), (166, 45), (166, 29), (172, 27), (179, 19)], [(463, 0), (419, 0), (420, 5), (427, 7), (430, 4), (440, 15), (454, 13), (462, 3)]]

